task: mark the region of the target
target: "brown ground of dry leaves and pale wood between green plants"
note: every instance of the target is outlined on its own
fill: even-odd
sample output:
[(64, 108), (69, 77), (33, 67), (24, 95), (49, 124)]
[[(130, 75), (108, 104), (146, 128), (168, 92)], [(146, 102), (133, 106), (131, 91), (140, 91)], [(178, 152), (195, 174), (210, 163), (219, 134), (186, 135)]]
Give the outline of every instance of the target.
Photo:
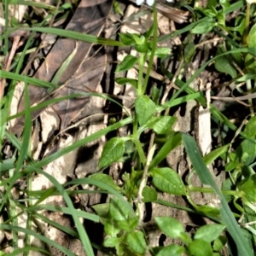
[[(104, 12), (100, 14), (99, 9), (96, 9), (95, 6), (89, 7), (88, 5), (90, 5), (90, 2), (102, 2), (102, 10), (104, 10)], [(111, 7), (112, 1), (107, 2), (108, 3), (105, 3), (104, 1), (82, 0), (77, 11), (67, 18), (69, 21), (67, 22), (67, 20), (64, 20), (64, 22), (58, 26), (67, 26), (68, 29), (113, 39), (118, 39), (118, 31), (143, 33), (150, 26), (152, 22), (152, 14), (146, 7), (138, 8), (136, 4), (131, 3), (130, 1), (121, 1), (119, 6), (124, 12), (124, 16), (121, 16), (113, 12)], [(204, 3), (200, 3), (200, 5), (203, 4)], [(231, 18), (232, 17), (230, 17), (230, 19)], [(189, 19), (191, 19), (191, 16), (188, 17), (188, 22)], [(177, 24), (166, 17), (166, 15), (160, 13), (158, 15), (158, 23), (159, 37), (175, 32), (176, 29), (181, 29), (188, 24), (186, 22)], [(165, 67), (169, 72), (175, 73), (179, 79), (187, 81), (195, 71), (216, 54), (218, 44), (222, 41), (222, 38), (219, 38), (218, 35), (213, 32), (208, 33), (207, 36), (193, 36), (193, 42), (196, 45), (195, 56), (189, 63), (181, 64), (176, 53), (181, 48), (182, 42), (189, 37), (191, 37), (189, 33), (184, 33), (182, 36), (172, 37), (160, 42), (160, 46), (172, 49), (174, 55), (172, 55), (170, 59), (166, 59), (163, 63), (155, 60), (154, 73), (151, 74), (152, 78), (149, 80), (148, 88), (151, 84), (158, 84), (159, 86), (168, 86), (171, 84), (172, 86), (170, 80), (166, 81), (166, 83), (161, 81), (163, 78), (162, 67)], [(55, 38), (44, 38), (44, 42), (49, 42), (49, 40), (55, 42)], [(120, 86), (115, 84), (113, 80), (117, 61), (123, 60), (128, 53), (135, 55), (136, 53), (133, 49), (127, 47), (113, 48), (110, 46), (102, 48), (92, 47), (89, 43), (74, 42), (69, 39), (57, 38), (54, 46), (51, 46), (50, 44), (48, 49), (44, 49), (44, 51), (39, 51), (38, 53), (38, 59), (40, 60), (42, 55), (44, 55), (47, 56), (46, 61), (37, 62), (35, 59), (32, 62), (32, 66), (28, 67), (28, 69), (33, 77), (49, 81), (61, 67), (61, 63), (72, 53), (75, 55), (75, 58), (73, 58), (70, 66), (61, 74), (61, 78), (58, 80), (59, 84), (66, 84), (52, 97), (65, 96), (71, 92), (77, 93), (80, 91), (103, 92), (109, 96), (115, 96), (114, 99), (123, 104), (129, 111), (133, 111), (133, 98), (135, 94), (132, 86)], [(32, 55), (30, 55), (30, 57), (32, 57)], [(180, 65), (182, 65), (181, 69), (179, 69)], [(176, 71), (178, 71), (178, 73), (176, 73)], [(125, 75), (129, 78), (136, 78), (137, 69), (134, 68)], [(231, 86), (222, 86), (224, 82), (229, 81), (229, 75), (224, 73), (219, 74), (213, 65), (211, 65), (201, 72), (200, 76), (189, 86), (196, 91), (206, 91), (207, 87), (209, 87), (212, 92), (214, 92), (215, 96), (230, 96)], [(172, 87), (168, 97), (172, 96), (174, 90), (175, 88)], [(49, 91), (40, 88), (38, 89), (38, 87), (32, 88), (30, 90), (31, 103), (33, 104), (42, 100), (48, 93)], [(15, 107), (15, 102), (13, 102), (14, 108), (22, 109), (22, 100), (20, 103), (20, 96), (16, 95), (16, 97), (18, 107)], [(237, 102), (227, 104), (226, 102), (214, 100), (212, 101), (212, 104), (218, 108), (218, 110), (225, 113), (230, 119), (243, 119), (247, 114), (247, 108), (238, 105), (239, 103)], [(207, 108), (202, 109), (199, 107), (200, 104), (198, 102), (190, 101), (189, 103), (184, 103), (176, 108), (172, 108), (170, 114), (177, 117), (177, 122), (173, 127), (174, 130), (183, 131), (193, 135), (196, 138), (197, 143), (199, 143), (201, 153), (204, 155), (209, 153), (211, 148), (216, 148), (219, 145), (218, 132), (216, 132), (216, 135), (212, 132), (213, 130), (218, 131), (219, 127), (218, 124), (211, 121)], [(242, 115), (241, 109), (244, 109)], [(92, 96), (82, 100), (70, 100), (63, 104), (56, 104), (54, 107), (45, 108), (44, 111), (40, 111), (34, 115), (34, 118), (37, 119), (37, 121), (34, 122), (32, 130), (31, 143), (33, 158), (34, 160), (42, 160), (50, 154), (54, 154), (60, 150), (60, 148), (65, 148), (79, 139), (88, 137), (96, 131), (101, 131), (108, 126), (111, 117), (119, 120), (122, 119), (123, 116), (124, 113), (122, 113), (122, 109), (118, 108), (116, 104), (106, 101), (103, 98)], [(23, 126), (24, 120), (18, 119), (10, 128), (10, 131), (15, 132), (15, 134), (19, 136)], [(130, 132), (129, 127), (125, 127), (119, 131), (119, 135), (124, 136)], [(49, 165), (44, 166), (44, 172), (48, 172), (60, 183), (65, 183), (67, 180), (75, 177), (87, 177), (98, 170), (97, 165), (102, 154), (103, 145), (111, 136), (116, 136), (116, 134), (110, 134), (108, 137), (101, 137), (96, 141), (88, 143), (59, 159), (54, 160)], [(8, 152), (6, 154), (8, 154)], [(189, 164), (190, 162), (185, 154), (183, 146), (172, 150), (172, 153), (167, 156), (165, 163), (166, 166), (170, 166), (173, 170), (177, 171), (184, 181), (189, 174)], [(113, 180), (116, 183), (121, 184), (124, 182), (122, 179), (124, 168), (127, 168), (127, 166), (123, 164), (113, 164), (113, 166), (105, 170), (104, 173), (109, 174), (113, 177)], [(220, 185), (225, 178), (225, 173), (222, 172), (224, 170), (222, 162), (216, 163), (215, 166), (209, 166), (209, 169)], [(200, 180), (195, 176), (192, 177), (192, 183), (201, 186)], [(51, 183), (49, 182), (49, 179), (42, 175), (36, 175), (32, 179), (32, 190), (48, 189), (50, 186)], [(92, 188), (84, 185), (79, 189)], [(183, 200), (181, 196), (161, 193), (160, 197), (179, 206), (188, 206), (188, 202)], [(218, 207), (218, 201), (214, 195), (201, 195), (201, 193), (195, 193), (195, 195), (193, 195), (193, 200), (198, 205), (213, 205), (214, 207)], [(108, 197), (98, 194), (73, 196), (74, 205), (82, 211), (87, 212), (93, 212), (91, 206), (104, 201), (108, 201)], [(44, 203), (53, 204), (55, 206), (65, 206), (61, 196), (51, 196), (46, 199)], [(52, 212), (44, 212), (44, 214), (57, 223), (73, 229), (73, 221), (65, 214)], [(155, 229), (155, 216), (171, 216), (177, 218), (183, 223), (185, 230), (192, 234), (197, 225), (206, 224), (208, 221), (205, 218), (200, 218), (198, 215), (189, 214), (188, 212), (176, 208), (164, 207), (154, 203), (147, 203), (146, 212), (144, 212), (144, 214), (144, 228), (148, 232), (148, 242), (151, 246), (167, 245), (173, 242), (171, 239), (166, 238), (160, 230)], [(25, 224), (26, 216), (24, 219), (20, 218), (20, 226), (24, 226)], [(44, 236), (67, 247), (76, 255), (85, 255), (78, 239), (67, 236), (67, 234), (51, 227), (49, 224), (42, 223), (38, 226), (40, 227), (41, 234), (44, 234)], [(91, 241), (101, 243), (101, 224), (93, 224), (88, 221), (84, 226)], [(39, 230), (38, 227), (35, 229)], [(0, 243), (2, 242), (2, 245), (6, 247), (5, 252), (8, 253), (12, 250), (12, 247), (11, 245), (8, 246), (7, 236), (8, 234), (5, 233), (2, 240), (0, 240)], [(23, 237), (20, 236), (20, 247), (22, 247), (23, 244)], [(37, 244), (37, 241), (34, 241), (34, 244)], [(47, 246), (44, 245), (44, 247)], [(53, 247), (49, 247), (48, 249), (52, 255), (65, 255), (64, 253), (58, 252)], [(31, 255), (41, 254), (32, 253)], [(98, 251), (97, 255), (104, 255), (104, 253)]]

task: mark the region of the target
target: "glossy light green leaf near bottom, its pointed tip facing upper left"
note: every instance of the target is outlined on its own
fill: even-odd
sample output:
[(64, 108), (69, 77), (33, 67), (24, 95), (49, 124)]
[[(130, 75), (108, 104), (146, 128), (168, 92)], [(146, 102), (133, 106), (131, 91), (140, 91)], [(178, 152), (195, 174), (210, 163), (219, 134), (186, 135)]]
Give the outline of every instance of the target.
[(183, 233), (183, 224), (177, 221), (176, 218), (171, 217), (155, 217), (156, 224), (160, 230), (171, 238), (180, 238)]

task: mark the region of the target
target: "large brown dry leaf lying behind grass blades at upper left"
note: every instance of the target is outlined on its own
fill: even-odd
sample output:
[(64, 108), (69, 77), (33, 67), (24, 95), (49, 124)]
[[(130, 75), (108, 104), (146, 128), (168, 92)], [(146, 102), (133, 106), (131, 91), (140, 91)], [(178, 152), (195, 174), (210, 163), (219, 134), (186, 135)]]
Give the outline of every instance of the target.
[[(109, 0), (82, 0), (78, 9), (75, 11), (72, 20), (68, 23), (66, 29), (75, 32), (88, 33), (90, 35), (99, 35), (102, 32), (102, 27), (108, 17), (108, 13), (112, 7), (113, 1)], [(47, 55), (43, 65), (39, 67), (35, 78), (44, 81), (51, 81), (55, 73), (61, 67), (63, 61), (76, 53), (73, 59), (68, 64), (66, 70), (61, 74), (58, 84), (65, 84), (68, 79), (73, 78), (65, 84), (60, 90), (57, 90), (54, 96), (65, 96), (72, 93), (81, 93), (90, 90), (95, 90), (96, 85), (102, 79), (102, 74), (105, 69), (106, 57), (101, 53), (85, 61), (91, 55), (93, 44), (86, 42), (76, 42), (73, 39), (60, 38), (57, 40), (53, 48)], [(47, 63), (47, 64), (46, 64)], [(29, 86), (31, 104), (35, 104), (48, 95), (45, 88), (30, 85)], [(84, 108), (88, 99), (72, 99), (65, 102), (55, 104), (55, 112), (61, 119), (61, 129), (67, 127), (71, 120)], [(19, 112), (24, 110), (24, 98), (22, 97), (19, 105)], [(32, 113), (32, 119), (35, 119), (42, 111)], [(15, 126), (11, 131), (20, 134), (24, 126), (24, 119), (17, 119)]]

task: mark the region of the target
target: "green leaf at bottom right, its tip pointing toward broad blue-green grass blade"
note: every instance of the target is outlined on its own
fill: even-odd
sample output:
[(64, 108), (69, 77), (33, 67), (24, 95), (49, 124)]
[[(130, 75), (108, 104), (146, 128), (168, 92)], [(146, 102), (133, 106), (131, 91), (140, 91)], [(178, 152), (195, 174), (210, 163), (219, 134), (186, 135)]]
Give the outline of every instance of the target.
[(195, 231), (194, 239), (211, 242), (217, 239), (224, 229), (225, 225), (223, 224), (207, 224)]

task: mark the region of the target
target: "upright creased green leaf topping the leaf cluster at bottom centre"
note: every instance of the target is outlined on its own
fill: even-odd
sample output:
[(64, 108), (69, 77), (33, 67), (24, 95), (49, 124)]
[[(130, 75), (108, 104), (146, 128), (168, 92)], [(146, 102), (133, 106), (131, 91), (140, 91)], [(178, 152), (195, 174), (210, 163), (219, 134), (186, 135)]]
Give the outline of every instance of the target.
[(111, 198), (109, 214), (114, 220), (127, 220), (130, 214), (130, 209), (125, 207), (121, 201)]

